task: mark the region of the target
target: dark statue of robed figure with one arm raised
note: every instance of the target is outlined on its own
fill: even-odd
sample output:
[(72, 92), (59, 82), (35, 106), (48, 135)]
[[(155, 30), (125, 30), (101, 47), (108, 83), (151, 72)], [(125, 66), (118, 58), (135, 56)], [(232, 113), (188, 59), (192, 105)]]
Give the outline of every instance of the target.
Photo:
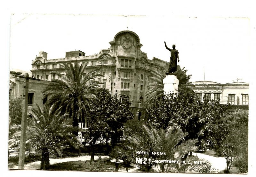
[(177, 71), (177, 60), (179, 60), (179, 51), (175, 49), (175, 45), (172, 45), (172, 49), (168, 48), (166, 46), (166, 42), (164, 42), (165, 48), (171, 52), (171, 58), (169, 62), (169, 68), (168, 68), (168, 73), (166, 75), (171, 75), (171, 73), (174, 73)]

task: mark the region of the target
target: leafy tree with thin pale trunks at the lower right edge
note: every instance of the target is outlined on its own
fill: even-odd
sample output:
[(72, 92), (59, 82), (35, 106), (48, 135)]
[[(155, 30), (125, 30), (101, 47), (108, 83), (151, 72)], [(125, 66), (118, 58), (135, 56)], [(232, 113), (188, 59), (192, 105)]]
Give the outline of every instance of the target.
[(248, 111), (238, 110), (224, 118), (225, 126), (217, 125), (213, 138), (215, 150), (227, 161), (225, 172), (235, 162), (240, 173), (248, 171)]

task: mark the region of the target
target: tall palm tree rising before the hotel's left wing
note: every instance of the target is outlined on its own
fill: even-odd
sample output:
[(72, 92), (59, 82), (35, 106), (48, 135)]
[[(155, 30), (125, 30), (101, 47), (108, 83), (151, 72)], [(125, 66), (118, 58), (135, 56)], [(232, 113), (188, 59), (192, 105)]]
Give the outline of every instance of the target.
[(44, 89), (44, 97), (50, 96), (49, 104), (62, 106), (62, 113), (68, 113), (73, 118), (73, 125), (78, 126), (78, 122), (85, 123), (85, 111), (89, 108), (89, 102), (95, 97), (100, 88), (100, 83), (95, 81), (97, 71), (86, 74), (88, 63), (74, 66), (71, 62), (63, 64), (66, 74), (52, 72), (59, 79), (53, 79)]

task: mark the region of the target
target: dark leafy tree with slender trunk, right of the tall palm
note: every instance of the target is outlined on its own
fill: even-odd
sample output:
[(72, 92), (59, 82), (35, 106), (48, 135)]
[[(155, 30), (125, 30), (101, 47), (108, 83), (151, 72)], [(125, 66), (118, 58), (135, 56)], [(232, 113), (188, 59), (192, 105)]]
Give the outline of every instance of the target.
[(128, 102), (121, 102), (117, 95), (112, 97), (103, 89), (90, 104), (87, 120), (89, 128), (85, 134), (90, 139), (91, 162), (94, 160), (94, 145), (99, 138), (104, 138), (114, 146), (123, 136), (124, 123), (133, 118)]

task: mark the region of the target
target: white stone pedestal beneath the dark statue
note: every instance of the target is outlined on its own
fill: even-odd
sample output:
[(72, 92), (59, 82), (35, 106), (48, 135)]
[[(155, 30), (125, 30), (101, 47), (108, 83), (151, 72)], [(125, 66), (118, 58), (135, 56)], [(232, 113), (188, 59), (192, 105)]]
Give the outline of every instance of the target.
[[(178, 94), (178, 84), (179, 80), (176, 75), (166, 75), (164, 78), (164, 95), (167, 98), (171, 98), (171, 93)], [(175, 96), (175, 95), (174, 95)]]

